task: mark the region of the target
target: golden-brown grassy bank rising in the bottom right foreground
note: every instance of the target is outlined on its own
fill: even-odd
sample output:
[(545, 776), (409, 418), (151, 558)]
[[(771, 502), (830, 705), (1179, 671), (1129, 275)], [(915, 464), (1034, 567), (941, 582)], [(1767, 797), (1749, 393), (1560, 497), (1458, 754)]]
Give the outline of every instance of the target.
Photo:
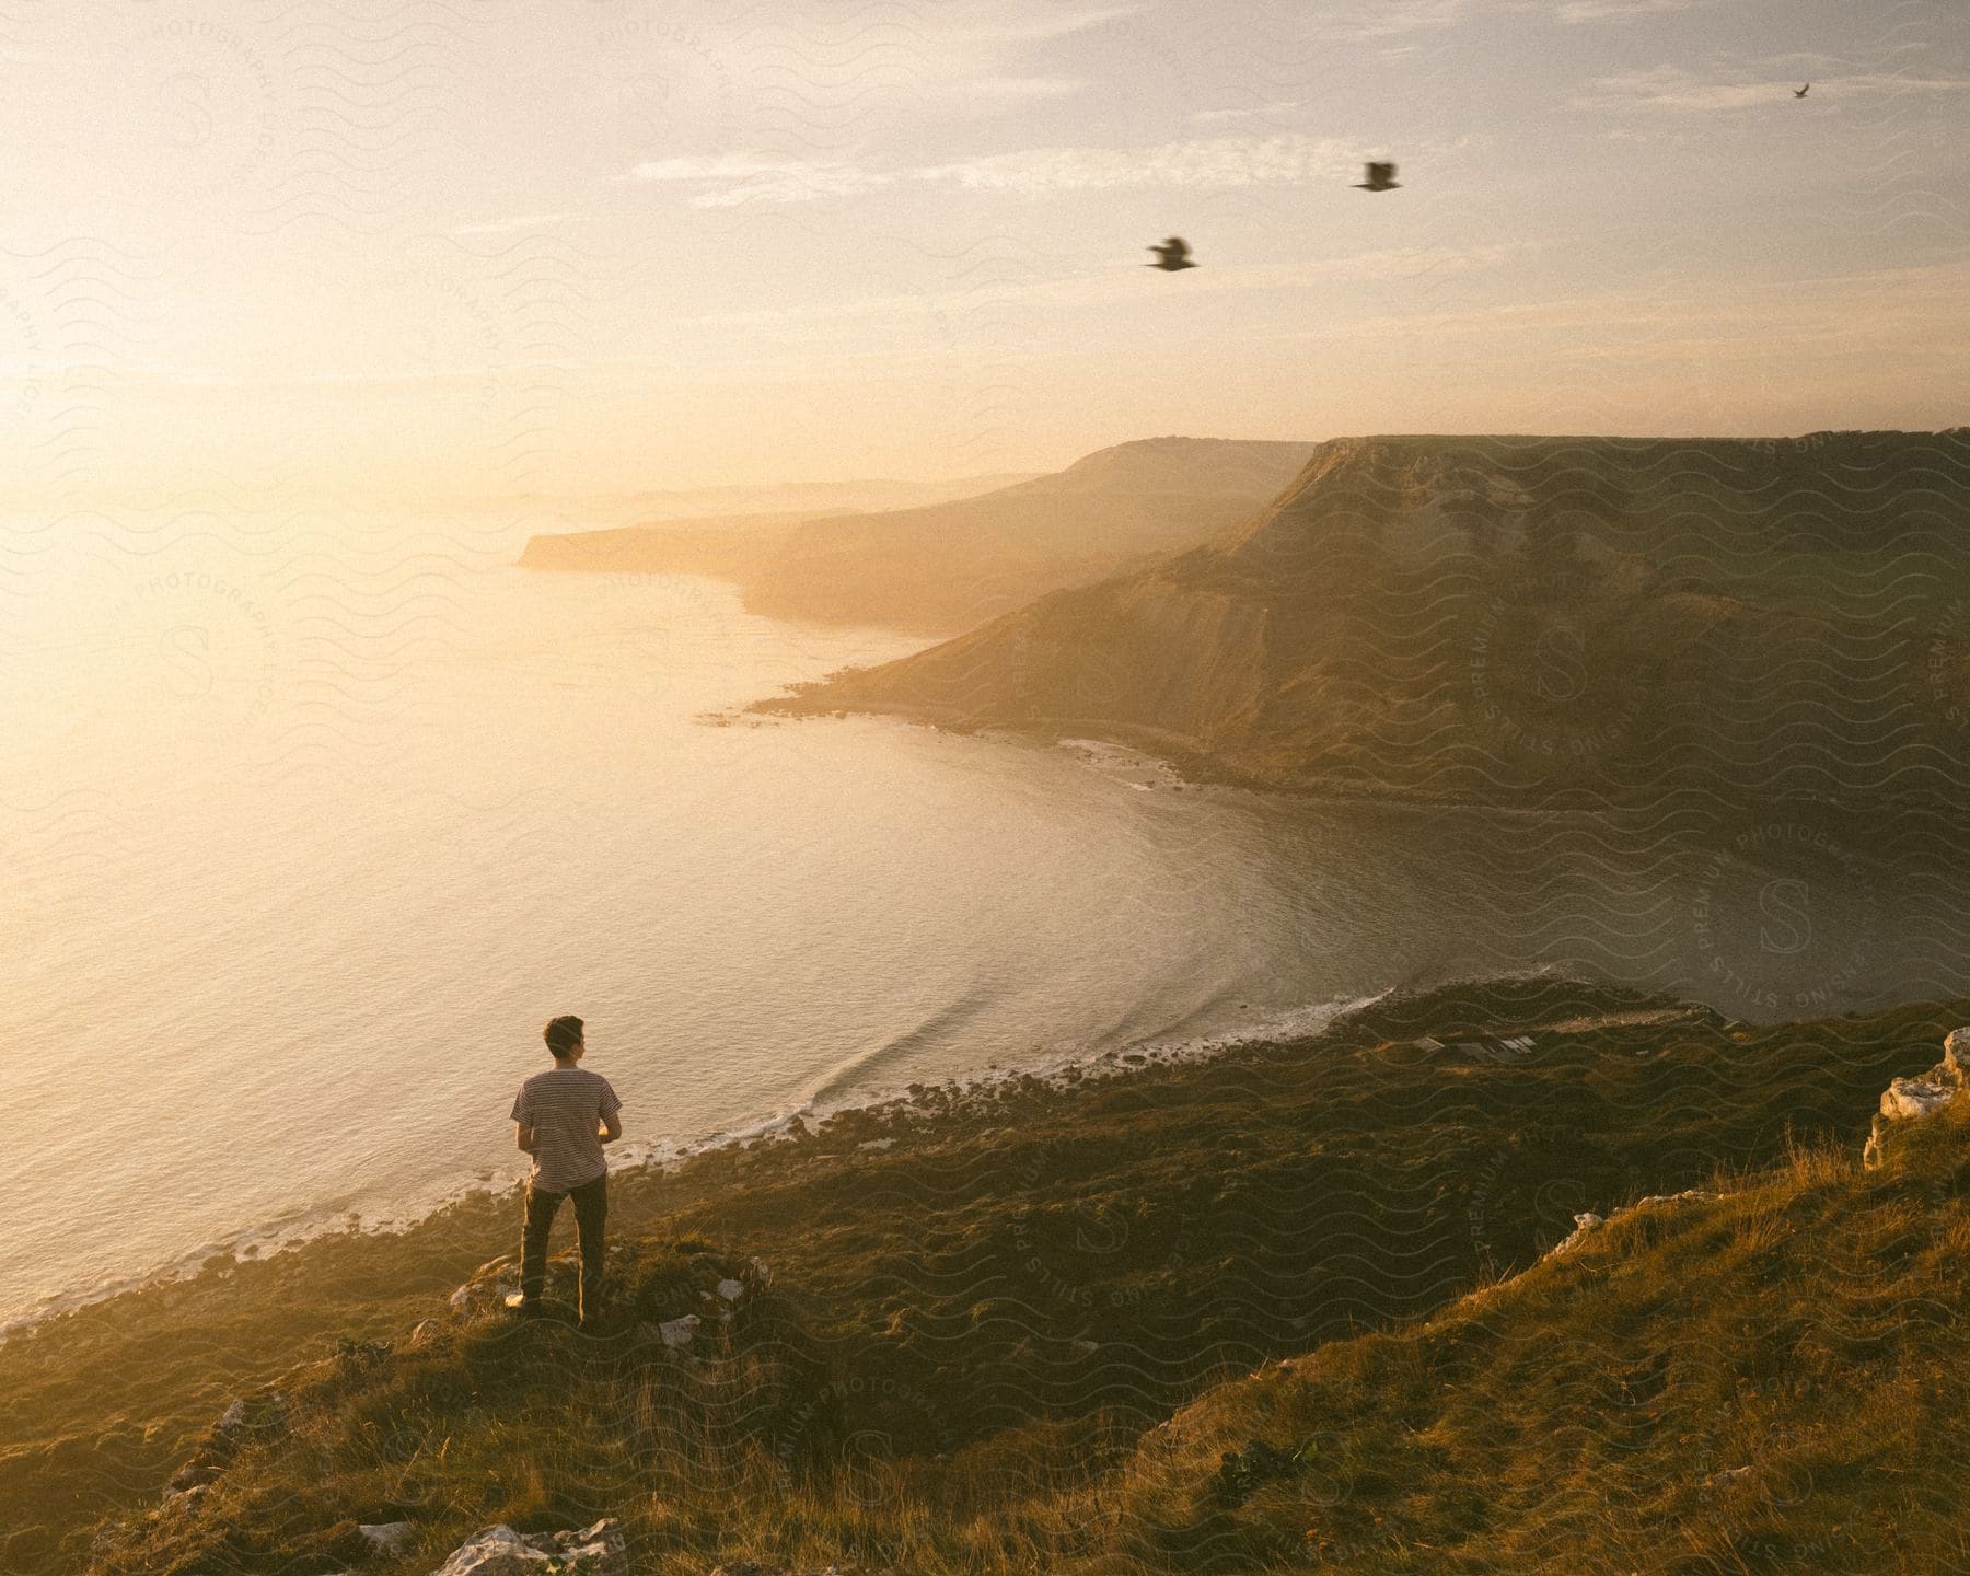
[(1783, 1576), (1970, 1566), (1970, 1111), (1621, 1212), (1420, 1326), (1206, 1395), (1129, 1562)]

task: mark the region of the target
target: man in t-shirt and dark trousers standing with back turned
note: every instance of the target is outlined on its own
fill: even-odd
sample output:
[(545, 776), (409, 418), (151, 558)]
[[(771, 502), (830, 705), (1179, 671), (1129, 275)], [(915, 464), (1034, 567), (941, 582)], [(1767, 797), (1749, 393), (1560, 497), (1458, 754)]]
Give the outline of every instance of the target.
[(534, 1156), (526, 1180), (520, 1229), (520, 1312), (540, 1312), (548, 1280), (548, 1231), (563, 1198), (575, 1200), (581, 1237), (581, 1328), (593, 1330), (603, 1284), (603, 1225), (609, 1219), (609, 1156), (603, 1145), (623, 1137), (609, 1080), (575, 1064), (587, 1046), (581, 1018), (552, 1018), (540, 1032), (554, 1054), (554, 1068), (520, 1085), (512, 1103), (520, 1149)]

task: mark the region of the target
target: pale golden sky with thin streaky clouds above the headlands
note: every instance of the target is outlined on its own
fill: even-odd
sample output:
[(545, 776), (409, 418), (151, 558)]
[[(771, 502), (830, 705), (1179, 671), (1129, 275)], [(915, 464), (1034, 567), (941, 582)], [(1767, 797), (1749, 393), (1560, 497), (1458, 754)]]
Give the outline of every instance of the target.
[(1970, 422), (1962, 0), (0, 0), (0, 61), (12, 506)]

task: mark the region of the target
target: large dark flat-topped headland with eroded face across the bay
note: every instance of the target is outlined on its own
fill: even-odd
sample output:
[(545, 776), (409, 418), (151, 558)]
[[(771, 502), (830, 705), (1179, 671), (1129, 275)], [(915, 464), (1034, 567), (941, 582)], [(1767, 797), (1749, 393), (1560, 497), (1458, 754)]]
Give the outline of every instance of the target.
[(1280, 786), (1946, 796), (1970, 437), (1355, 437), (1249, 530), (790, 709), (1105, 731)]

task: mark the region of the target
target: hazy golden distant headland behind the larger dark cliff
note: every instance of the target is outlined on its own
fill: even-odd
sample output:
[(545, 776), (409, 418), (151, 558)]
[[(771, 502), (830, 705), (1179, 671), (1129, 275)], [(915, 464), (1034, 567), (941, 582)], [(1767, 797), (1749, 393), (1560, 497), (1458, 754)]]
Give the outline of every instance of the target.
[(1312, 447), (1150, 437), (953, 502), (542, 536), (520, 561), (715, 575), (751, 613), (950, 634), (1247, 522)]

